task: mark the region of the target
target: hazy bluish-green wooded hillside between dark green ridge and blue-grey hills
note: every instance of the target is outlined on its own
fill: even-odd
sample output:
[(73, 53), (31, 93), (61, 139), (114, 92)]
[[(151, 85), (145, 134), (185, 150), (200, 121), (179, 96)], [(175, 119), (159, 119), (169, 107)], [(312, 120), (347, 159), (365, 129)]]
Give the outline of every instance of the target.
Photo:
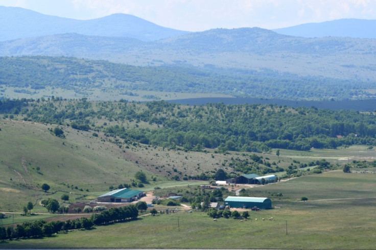
[[(219, 93), (289, 100), (371, 98), (372, 82), (302, 77), (277, 71), (204, 67), (140, 67), (65, 57), (0, 57), (0, 89), (38, 94), (52, 88), (72, 90), (90, 98), (93, 92), (132, 91)], [(0, 98), (2, 93), (0, 92)], [(9, 96), (12, 98), (12, 96)], [(3, 98), (5, 98), (3, 96)]]

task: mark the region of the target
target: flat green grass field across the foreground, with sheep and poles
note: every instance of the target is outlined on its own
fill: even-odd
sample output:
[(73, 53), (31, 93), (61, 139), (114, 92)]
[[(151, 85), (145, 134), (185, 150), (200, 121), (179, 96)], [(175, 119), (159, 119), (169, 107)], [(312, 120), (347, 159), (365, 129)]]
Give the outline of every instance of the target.
[[(0, 247), (374, 249), (374, 179), (373, 174), (334, 171), (253, 188), (284, 196), (271, 197), (277, 208), (251, 211), (252, 219), (241, 223), (181, 211), (51, 238), (14, 240)], [(301, 196), (309, 201), (297, 202)], [(361, 197), (364, 199), (355, 199)], [(262, 220), (269, 217), (274, 221)]]

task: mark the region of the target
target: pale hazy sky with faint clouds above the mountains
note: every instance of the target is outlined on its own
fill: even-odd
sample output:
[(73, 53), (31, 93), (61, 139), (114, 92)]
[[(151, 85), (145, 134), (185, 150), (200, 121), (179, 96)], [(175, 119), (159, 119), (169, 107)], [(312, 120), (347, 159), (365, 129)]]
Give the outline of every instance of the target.
[(376, 0), (0, 0), (0, 5), (75, 19), (125, 13), (185, 31), (376, 19)]

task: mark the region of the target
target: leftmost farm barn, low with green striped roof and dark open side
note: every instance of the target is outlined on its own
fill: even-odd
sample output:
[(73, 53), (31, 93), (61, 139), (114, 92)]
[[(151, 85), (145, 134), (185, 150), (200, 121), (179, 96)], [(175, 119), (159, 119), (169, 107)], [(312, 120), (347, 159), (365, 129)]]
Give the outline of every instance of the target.
[(97, 198), (98, 202), (132, 202), (145, 196), (144, 191), (129, 188), (116, 189), (105, 193)]

